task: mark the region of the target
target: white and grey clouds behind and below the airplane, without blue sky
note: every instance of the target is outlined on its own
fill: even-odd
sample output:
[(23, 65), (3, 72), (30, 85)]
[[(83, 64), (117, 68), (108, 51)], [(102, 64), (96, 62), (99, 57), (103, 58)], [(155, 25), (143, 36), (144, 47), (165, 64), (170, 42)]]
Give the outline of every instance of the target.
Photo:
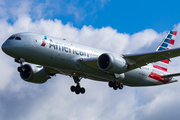
[[(116, 53), (135, 53), (140, 47), (158, 46), (153, 43), (161, 42), (164, 35), (152, 29), (133, 35), (118, 33), (111, 27), (96, 29), (83, 26), (78, 29), (70, 23), (64, 25), (60, 20), (32, 21), (28, 14), (19, 15), (14, 24), (1, 19), (0, 27), (1, 44), (13, 33), (30, 31), (67, 38)], [(179, 30), (180, 25), (175, 29)], [(178, 35), (177, 40), (179, 38)], [(177, 44), (180, 46), (179, 42)], [(69, 89), (74, 84), (72, 78), (57, 75), (42, 85), (27, 83), (19, 77), (16, 70), (18, 64), (12, 58), (2, 51), (0, 57), (0, 119), (135, 120), (167, 119), (172, 114), (174, 118), (179, 116), (178, 111), (172, 113), (173, 109), (179, 107), (179, 83), (147, 88), (125, 86), (122, 91), (114, 91), (107, 83), (83, 79), (81, 85), (86, 88), (86, 93), (75, 95)], [(172, 64), (177, 64), (175, 68), (179, 68), (177, 59)]]

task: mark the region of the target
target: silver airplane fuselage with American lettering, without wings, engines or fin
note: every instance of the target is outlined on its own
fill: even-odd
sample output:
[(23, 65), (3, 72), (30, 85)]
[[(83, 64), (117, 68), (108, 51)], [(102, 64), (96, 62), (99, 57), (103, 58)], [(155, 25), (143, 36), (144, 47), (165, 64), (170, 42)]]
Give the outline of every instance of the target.
[[(54, 69), (60, 74), (71, 76), (76, 73), (83, 78), (105, 82), (115, 79), (114, 75), (80, 61), (82, 58), (98, 58), (101, 54), (110, 52), (35, 33), (14, 36), (21, 37), (21, 40), (7, 40), (3, 44), (4, 48), (9, 48), (6, 53), (14, 58), (23, 58), (26, 62)], [(148, 64), (119, 74), (118, 80), (128, 86), (152, 86), (172, 82), (171, 79), (163, 82), (163, 79), (157, 78), (157, 74), (163, 75), (166, 72)]]

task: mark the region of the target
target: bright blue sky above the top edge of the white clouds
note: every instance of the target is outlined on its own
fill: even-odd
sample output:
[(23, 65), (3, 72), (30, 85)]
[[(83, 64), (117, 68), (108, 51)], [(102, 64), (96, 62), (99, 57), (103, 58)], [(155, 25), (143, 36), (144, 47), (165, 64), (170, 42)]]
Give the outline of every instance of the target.
[[(7, 3), (6, 6), (14, 7), (20, 6), (22, 2)], [(119, 32), (130, 34), (147, 28), (157, 32), (171, 30), (180, 18), (178, 0), (38, 0), (29, 3), (32, 6), (27, 12), (33, 20), (59, 19), (64, 24), (70, 22), (76, 28), (84, 25), (95, 28), (111, 26)], [(9, 11), (8, 13), (12, 15)], [(13, 20), (14, 16), (9, 17), (9, 21)]]

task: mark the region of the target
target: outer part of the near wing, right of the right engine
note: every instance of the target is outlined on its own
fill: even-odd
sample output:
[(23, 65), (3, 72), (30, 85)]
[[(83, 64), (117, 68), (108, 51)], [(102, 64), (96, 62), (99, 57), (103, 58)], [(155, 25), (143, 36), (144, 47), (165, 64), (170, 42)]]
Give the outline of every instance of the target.
[[(129, 54), (123, 55), (123, 58), (129, 64), (129, 69), (127, 71), (140, 68), (148, 63), (161, 61), (167, 59), (170, 61), (170, 58), (180, 56), (180, 48), (156, 51), (151, 53), (143, 54)], [(127, 72), (126, 71), (126, 72)]]

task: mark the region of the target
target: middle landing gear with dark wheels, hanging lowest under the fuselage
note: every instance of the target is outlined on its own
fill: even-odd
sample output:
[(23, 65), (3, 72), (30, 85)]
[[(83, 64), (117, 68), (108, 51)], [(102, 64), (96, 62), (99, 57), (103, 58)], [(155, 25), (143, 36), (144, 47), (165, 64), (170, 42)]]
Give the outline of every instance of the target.
[(71, 91), (75, 92), (76, 94), (84, 94), (85, 93), (85, 88), (80, 86), (80, 80), (82, 78), (77, 77), (77, 76), (73, 76), (74, 82), (77, 84), (76, 86), (71, 86)]

